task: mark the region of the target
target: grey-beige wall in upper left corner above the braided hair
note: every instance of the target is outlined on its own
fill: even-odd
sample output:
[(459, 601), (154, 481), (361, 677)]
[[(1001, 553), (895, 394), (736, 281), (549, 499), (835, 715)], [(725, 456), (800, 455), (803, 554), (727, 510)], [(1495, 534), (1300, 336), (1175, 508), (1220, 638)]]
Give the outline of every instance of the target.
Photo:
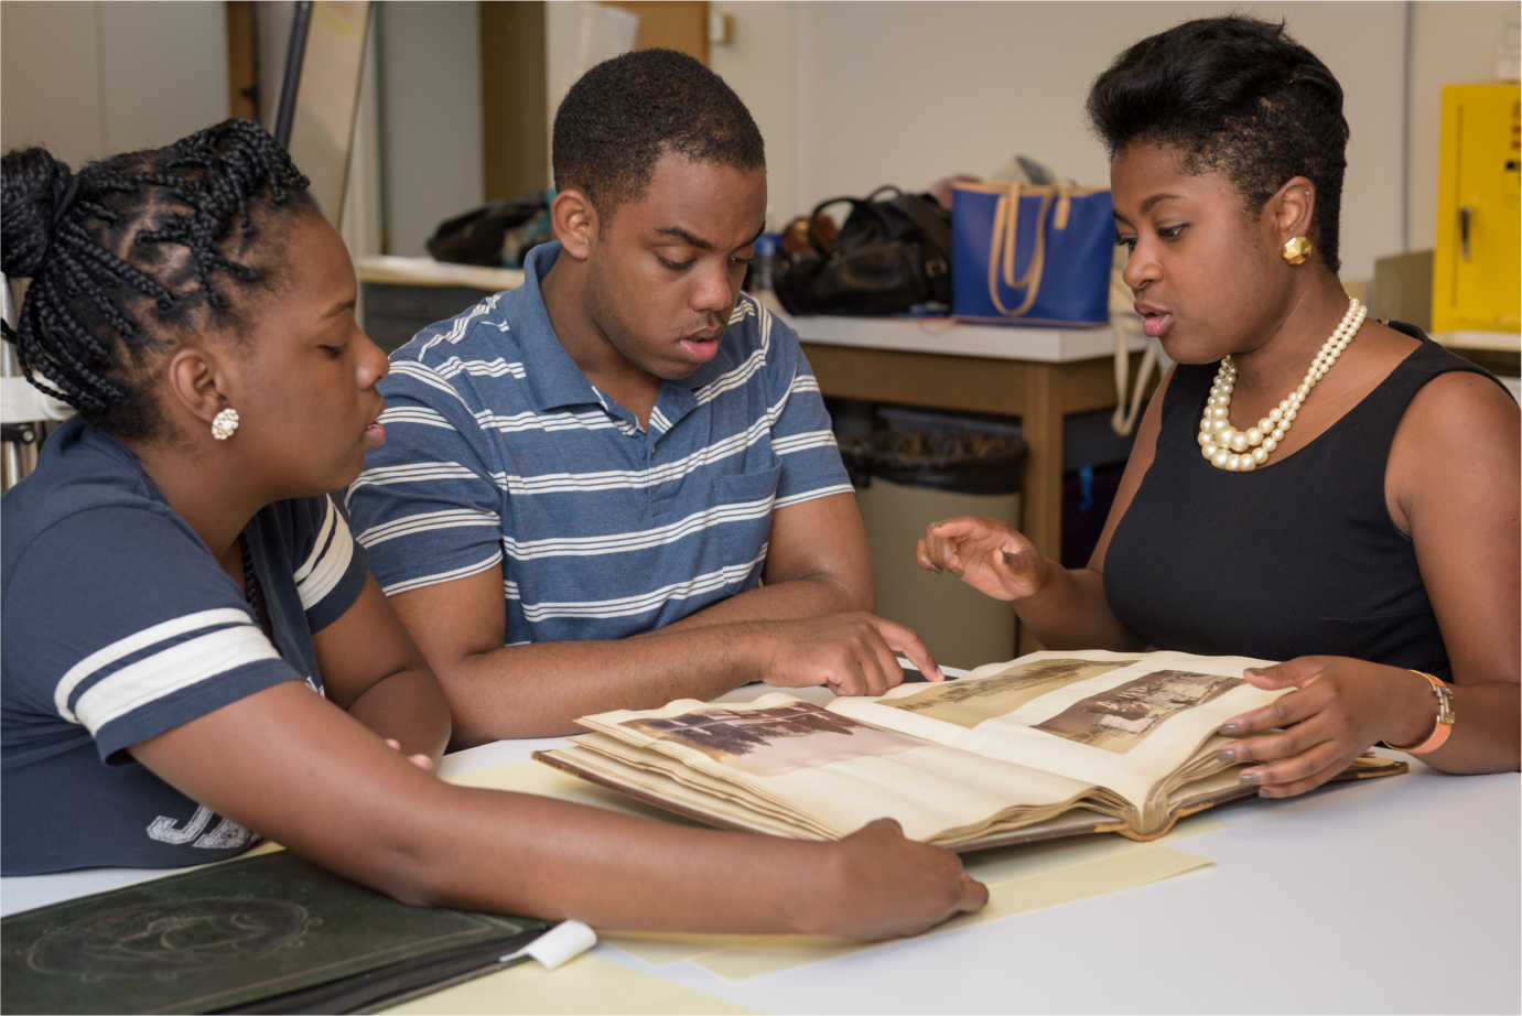
[(227, 117), (222, 3), (0, 3), (0, 148), (72, 167)]

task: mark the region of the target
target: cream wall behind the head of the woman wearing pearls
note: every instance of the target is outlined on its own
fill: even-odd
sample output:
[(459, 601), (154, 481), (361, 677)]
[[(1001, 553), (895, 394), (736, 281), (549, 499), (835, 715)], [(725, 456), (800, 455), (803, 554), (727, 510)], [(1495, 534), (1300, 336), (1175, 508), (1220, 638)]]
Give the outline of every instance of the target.
[(1084, 97), (1116, 53), (1193, 17), (1282, 17), (1347, 93), (1348, 278), (1368, 278), (1379, 256), (1432, 245), (1441, 85), (1489, 79), (1498, 49), (1517, 46), (1517, 5), (1507, 2), (752, 0), (712, 9), (732, 14), (737, 30), (734, 46), (712, 47), (711, 64), (761, 125), (772, 217), (784, 221), (880, 183), (924, 187), (953, 172), (989, 173), (1015, 152), (1105, 183)]

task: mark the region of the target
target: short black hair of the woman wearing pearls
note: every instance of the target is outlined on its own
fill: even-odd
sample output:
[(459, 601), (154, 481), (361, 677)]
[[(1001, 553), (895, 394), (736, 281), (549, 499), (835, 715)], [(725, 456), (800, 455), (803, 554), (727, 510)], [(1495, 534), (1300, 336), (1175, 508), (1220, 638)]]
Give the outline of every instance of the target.
[(1088, 117), (1111, 158), (1135, 143), (1177, 148), (1187, 172), (1225, 173), (1250, 210), (1306, 176), (1317, 189), (1310, 240), (1341, 268), (1342, 85), (1283, 23), (1199, 18), (1151, 35), (1094, 79)]

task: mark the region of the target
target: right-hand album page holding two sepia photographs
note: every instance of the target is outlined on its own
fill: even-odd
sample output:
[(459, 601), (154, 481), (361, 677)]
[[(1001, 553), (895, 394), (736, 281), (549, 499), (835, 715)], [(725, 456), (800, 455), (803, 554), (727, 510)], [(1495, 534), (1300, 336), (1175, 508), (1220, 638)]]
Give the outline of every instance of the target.
[[(1180, 774), (1225, 768), (1216, 729), (1272, 701), (1242, 678), (1248, 657), (1183, 652), (1032, 652), (944, 684), (900, 684), (878, 698), (840, 698), (831, 712), (968, 751), (1106, 786), (1148, 811)], [(1205, 751), (1201, 747), (1207, 745)]]

